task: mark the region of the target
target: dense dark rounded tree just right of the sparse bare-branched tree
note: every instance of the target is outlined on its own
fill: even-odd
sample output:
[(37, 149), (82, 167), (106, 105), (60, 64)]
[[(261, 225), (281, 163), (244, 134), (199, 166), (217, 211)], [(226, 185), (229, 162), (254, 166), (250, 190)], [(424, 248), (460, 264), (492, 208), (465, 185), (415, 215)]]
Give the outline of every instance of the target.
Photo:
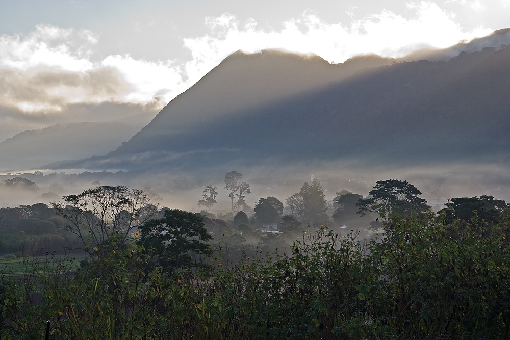
[(212, 237), (204, 227), (203, 218), (182, 210), (167, 210), (162, 219), (153, 219), (140, 226), (139, 244), (167, 271), (192, 265), (192, 253), (210, 255), (206, 242)]

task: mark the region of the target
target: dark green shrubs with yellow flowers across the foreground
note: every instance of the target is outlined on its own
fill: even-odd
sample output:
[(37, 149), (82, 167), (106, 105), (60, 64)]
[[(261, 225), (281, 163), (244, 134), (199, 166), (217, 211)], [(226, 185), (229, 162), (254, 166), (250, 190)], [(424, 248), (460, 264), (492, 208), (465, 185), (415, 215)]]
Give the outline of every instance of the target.
[(430, 212), (385, 223), (368, 243), (324, 227), (234, 266), (211, 258), (212, 271), (147, 267), (144, 247), (118, 237), (75, 273), (27, 262), (21, 280), (0, 276), (1, 336), (41, 338), (41, 320), (67, 339), (510, 336), (508, 212), (492, 228)]

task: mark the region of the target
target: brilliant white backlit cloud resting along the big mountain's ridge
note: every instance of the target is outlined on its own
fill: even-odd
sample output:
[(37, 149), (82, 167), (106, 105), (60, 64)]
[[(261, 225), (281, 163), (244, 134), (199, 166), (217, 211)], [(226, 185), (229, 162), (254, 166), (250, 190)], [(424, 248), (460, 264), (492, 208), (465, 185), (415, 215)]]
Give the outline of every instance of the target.
[(447, 47), (493, 31), (480, 27), (465, 32), (452, 14), (433, 2), (409, 3), (407, 10), (410, 17), (384, 10), (349, 24), (326, 23), (317, 15), (304, 12), (301, 17), (284, 22), (280, 31), (264, 30), (253, 19), (243, 26), (228, 13), (207, 18), (211, 34), (184, 39), (193, 56), (186, 71), (189, 75), (202, 74), (238, 49), (256, 52), (284, 48), (313, 52), (330, 62), (343, 62), (366, 53), (401, 57), (419, 47)]

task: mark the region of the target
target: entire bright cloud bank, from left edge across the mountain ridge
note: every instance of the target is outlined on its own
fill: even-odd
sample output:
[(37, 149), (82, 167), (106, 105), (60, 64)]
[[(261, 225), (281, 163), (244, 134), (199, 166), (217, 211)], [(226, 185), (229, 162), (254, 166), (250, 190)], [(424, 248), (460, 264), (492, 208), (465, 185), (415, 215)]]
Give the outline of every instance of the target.
[[(364, 53), (401, 57), (419, 47), (446, 47), (492, 31), (464, 30), (454, 15), (433, 2), (410, 3), (405, 10), (409, 12), (405, 17), (382, 10), (347, 23), (326, 22), (314, 11), (305, 11), (277, 28), (252, 18), (241, 22), (229, 13), (210, 16), (204, 22), (207, 34), (182, 36), (185, 59), (103, 55), (99, 50), (103, 37), (89, 29), (39, 24), (27, 34), (3, 34), (0, 141), (61, 122), (128, 121), (143, 126), (239, 49), (313, 52), (338, 63)], [(103, 105), (111, 112), (98, 114), (97, 107)]]

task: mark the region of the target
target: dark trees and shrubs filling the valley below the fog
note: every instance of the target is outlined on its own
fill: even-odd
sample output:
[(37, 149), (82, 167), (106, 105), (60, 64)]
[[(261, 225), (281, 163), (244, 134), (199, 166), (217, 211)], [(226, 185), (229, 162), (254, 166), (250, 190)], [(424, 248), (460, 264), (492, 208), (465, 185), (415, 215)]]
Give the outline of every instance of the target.
[[(21, 182), (32, 186), (2, 185)], [(329, 206), (313, 179), (252, 209), (242, 174), (224, 182), (232, 212), (221, 216), (208, 212), (212, 185), (200, 213), (98, 184), (0, 209), (0, 338), (510, 336), (505, 201), (458, 197), (435, 212), (388, 179)]]

